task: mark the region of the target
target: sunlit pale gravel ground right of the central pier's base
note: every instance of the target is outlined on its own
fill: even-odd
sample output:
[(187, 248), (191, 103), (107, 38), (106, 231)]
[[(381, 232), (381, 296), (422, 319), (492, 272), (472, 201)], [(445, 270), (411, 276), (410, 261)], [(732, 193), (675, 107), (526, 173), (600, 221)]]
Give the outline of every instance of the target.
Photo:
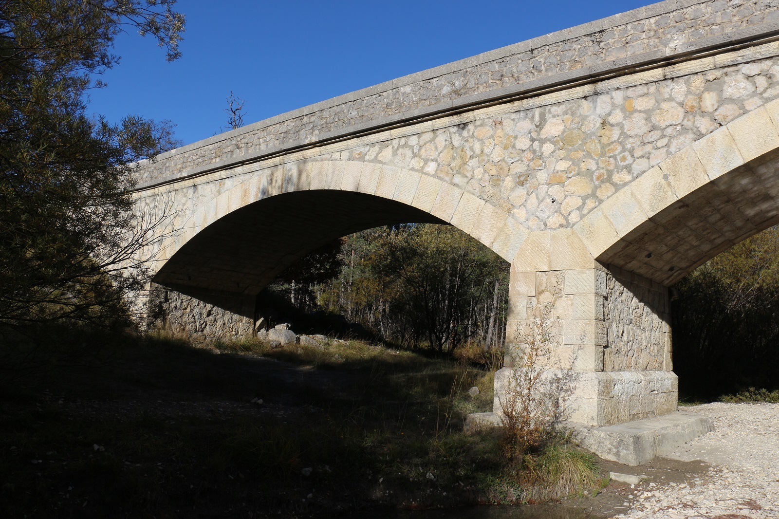
[(708, 475), (677, 484), (649, 483), (629, 496), (629, 519), (779, 517), (779, 404), (706, 404), (684, 411), (714, 420), (667, 457), (711, 464)]

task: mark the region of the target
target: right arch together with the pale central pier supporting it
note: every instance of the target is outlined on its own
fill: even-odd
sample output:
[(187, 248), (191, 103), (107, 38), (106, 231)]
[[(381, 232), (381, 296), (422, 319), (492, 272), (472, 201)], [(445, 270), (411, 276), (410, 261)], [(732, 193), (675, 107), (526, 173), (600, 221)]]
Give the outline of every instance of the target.
[[(609, 425), (675, 410), (668, 287), (779, 223), (777, 168), (779, 101), (771, 101), (633, 178), (572, 228), (528, 234), (512, 263), (508, 328), (522, 330), (552, 306), (548, 362), (580, 376), (573, 421)], [(506, 339), (509, 368), (522, 341)], [(510, 373), (496, 375), (496, 394)]]

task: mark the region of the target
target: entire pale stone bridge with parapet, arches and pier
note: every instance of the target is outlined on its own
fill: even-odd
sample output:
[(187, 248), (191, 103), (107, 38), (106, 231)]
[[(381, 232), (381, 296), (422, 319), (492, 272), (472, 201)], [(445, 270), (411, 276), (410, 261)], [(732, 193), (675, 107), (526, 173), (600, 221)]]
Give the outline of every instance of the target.
[[(167, 326), (252, 334), (256, 294), (365, 228), (452, 224), (551, 308), (571, 418), (675, 410), (669, 289), (779, 222), (779, 1), (666, 0), (336, 97), (136, 169)], [(535, 313), (534, 313), (535, 312)], [(516, 355), (515, 355), (516, 357)]]

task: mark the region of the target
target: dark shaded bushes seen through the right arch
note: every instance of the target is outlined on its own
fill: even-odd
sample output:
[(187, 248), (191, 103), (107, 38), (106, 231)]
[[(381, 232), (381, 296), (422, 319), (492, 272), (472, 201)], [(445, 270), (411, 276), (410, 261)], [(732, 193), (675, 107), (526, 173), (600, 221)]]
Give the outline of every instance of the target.
[(682, 397), (779, 400), (779, 228), (722, 252), (675, 290), (671, 330)]

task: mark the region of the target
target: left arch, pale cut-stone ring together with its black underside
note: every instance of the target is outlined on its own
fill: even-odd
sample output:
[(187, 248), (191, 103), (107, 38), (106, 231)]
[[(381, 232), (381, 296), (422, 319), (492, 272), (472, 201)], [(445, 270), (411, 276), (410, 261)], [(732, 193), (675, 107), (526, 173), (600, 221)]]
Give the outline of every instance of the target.
[(451, 224), (509, 261), (527, 235), (506, 211), (419, 171), (300, 161), (241, 175), (175, 222), (180, 231), (162, 245), (153, 281), (192, 295), (253, 296), (326, 242), (408, 222)]

